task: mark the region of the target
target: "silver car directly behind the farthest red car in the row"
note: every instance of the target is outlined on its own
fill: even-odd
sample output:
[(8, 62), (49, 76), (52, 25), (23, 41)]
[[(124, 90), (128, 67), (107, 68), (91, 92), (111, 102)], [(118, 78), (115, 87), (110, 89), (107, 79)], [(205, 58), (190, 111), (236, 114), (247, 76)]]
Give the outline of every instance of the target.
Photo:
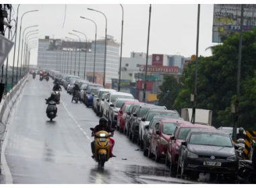
[(108, 111), (108, 125), (111, 126), (112, 128), (116, 128), (117, 116), (119, 114), (121, 107), (126, 101), (139, 102), (137, 99), (125, 99), (125, 98), (115, 99), (113, 104), (110, 105), (110, 109)]

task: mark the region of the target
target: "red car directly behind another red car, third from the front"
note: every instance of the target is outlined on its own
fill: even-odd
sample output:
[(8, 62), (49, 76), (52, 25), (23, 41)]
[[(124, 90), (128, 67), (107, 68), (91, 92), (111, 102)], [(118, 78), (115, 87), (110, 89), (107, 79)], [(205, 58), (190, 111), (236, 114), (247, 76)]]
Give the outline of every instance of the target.
[(148, 150), (148, 158), (156, 157), (156, 162), (160, 162), (161, 158), (166, 158), (166, 152), (170, 136), (177, 127), (191, 124), (181, 120), (160, 120), (153, 129), (150, 138), (150, 148)]

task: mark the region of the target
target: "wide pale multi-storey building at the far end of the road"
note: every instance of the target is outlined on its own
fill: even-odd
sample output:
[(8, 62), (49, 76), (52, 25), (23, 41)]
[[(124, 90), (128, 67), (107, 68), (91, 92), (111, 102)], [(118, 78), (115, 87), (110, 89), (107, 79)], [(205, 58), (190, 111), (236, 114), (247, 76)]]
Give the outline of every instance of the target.
[[(46, 36), (39, 39), (38, 43), (39, 69), (61, 71), (67, 75), (79, 76), (81, 79), (93, 77), (91, 73), (94, 73), (95, 41), (73, 42), (50, 39)], [(120, 44), (116, 43), (113, 37), (107, 38), (106, 87), (111, 85), (111, 79), (119, 78), (119, 48)], [(104, 52), (105, 40), (97, 40), (95, 76), (104, 75)], [(103, 76), (100, 78), (102, 81), (97, 78), (95, 81), (102, 83)]]

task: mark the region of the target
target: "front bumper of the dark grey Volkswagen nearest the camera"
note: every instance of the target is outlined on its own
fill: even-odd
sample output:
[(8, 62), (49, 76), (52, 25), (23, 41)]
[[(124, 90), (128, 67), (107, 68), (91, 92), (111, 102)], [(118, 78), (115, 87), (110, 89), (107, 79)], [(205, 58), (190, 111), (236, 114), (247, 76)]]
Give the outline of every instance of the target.
[(187, 158), (185, 160), (185, 170), (196, 171), (200, 173), (216, 173), (216, 174), (234, 174), (238, 171), (238, 161), (231, 162), (228, 160), (220, 160), (218, 162), (222, 163), (222, 167), (210, 167), (203, 165), (206, 162), (216, 162), (210, 159), (191, 159)]

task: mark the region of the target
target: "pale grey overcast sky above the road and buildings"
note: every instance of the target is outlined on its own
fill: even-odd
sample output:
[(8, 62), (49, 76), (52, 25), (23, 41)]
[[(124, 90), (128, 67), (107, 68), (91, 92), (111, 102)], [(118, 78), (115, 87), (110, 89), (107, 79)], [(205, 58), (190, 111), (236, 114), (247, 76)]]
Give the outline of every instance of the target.
[[(150, 4), (123, 3), (125, 22), (123, 36), (123, 56), (129, 57), (130, 52), (146, 52), (148, 40), (148, 20)], [(13, 3), (16, 18), (18, 4)], [(72, 30), (84, 32), (88, 39), (94, 40), (95, 26), (91, 21), (79, 18), (80, 16), (93, 19), (98, 26), (98, 38), (104, 37), (104, 16), (88, 8), (102, 11), (108, 19), (108, 35), (114, 36), (121, 42), (122, 9), (118, 3), (77, 3), (67, 4), (65, 25), (65, 4), (22, 3), (19, 12), (20, 18), (26, 11), (38, 9), (38, 12), (28, 13), (22, 21), (22, 28), (39, 25), (39, 38), (75, 38), (68, 33)], [(212, 24), (214, 4), (201, 4), (201, 23), (199, 37), (199, 55), (210, 56), (212, 46)], [(197, 4), (153, 3), (150, 30), (150, 54), (181, 54), (190, 57), (196, 52), (197, 32)], [(32, 29), (34, 30), (34, 29)], [(29, 30), (28, 30), (29, 31)], [(19, 32), (18, 32), (19, 34)], [(7, 35), (7, 32), (5, 34)], [(83, 36), (81, 36), (83, 38)], [(85, 40), (85, 38), (83, 38)], [(18, 40), (17, 40), (18, 41)], [(18, 48), (17, 48), (18, 49)], [(12, 64), (12, 55), (10, 61)], [(37, 63), (37, 50), (32, 51), (32, 64)]]

